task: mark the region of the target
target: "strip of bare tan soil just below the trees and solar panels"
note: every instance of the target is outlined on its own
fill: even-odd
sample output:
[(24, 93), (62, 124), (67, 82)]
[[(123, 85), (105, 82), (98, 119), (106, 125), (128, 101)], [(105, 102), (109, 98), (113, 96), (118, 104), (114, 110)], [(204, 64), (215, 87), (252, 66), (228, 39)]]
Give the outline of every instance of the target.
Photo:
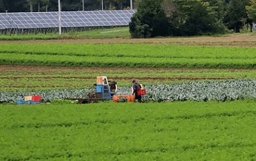
[(221, 37), (171, 37), (171, 38), (103, 38), (103, 39), (58, 39), (38, 41), (1, 41), (1, 43), (152, 43), (152, 44), (179, 44), (179, 45), (205, 45), (205, 46), (245, 46), (256, 47), (256, 36), (249, 34), (231, 34)]

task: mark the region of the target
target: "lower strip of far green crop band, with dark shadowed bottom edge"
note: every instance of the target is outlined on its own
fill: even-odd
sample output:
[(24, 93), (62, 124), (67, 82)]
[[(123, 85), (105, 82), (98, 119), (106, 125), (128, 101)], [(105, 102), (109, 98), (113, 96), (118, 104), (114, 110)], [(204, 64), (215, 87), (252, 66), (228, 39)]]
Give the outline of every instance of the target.
[(33, 55), (0, 53), (0, 65), (130, 67), (130, 68), (255, 68), (256, 59), (232, 58), (137, 58), (80, 57), (69, 55)]

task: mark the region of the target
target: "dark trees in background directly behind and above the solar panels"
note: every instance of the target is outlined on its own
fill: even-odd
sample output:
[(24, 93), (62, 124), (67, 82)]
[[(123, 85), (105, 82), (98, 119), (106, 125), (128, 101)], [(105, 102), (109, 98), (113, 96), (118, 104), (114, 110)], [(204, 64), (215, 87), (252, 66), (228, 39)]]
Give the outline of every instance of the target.
[[(134, 5), (137, 0), (133, 0)], [(102, 0), (60, 0), (62, 11), (102, 10)], [(84, 6), (83, 6), (84, 4)], [(130, 0), (103, 0), (103, 10), (130, 8)], [(0, 0), (0, 12), (58, 11), (58, 0)]]

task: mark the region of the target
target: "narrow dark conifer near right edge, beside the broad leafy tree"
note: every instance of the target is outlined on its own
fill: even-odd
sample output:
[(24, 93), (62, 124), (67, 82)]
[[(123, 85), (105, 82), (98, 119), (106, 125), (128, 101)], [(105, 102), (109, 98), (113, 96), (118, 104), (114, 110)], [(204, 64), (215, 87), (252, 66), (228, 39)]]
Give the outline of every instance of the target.
[(224, 21), (235, 33), (240, 32), (240, 28), (244, 25), (243, 21), (247, 19), (245, 6), (248, 3), (249, 0), (230, 0), (228, 4)]

